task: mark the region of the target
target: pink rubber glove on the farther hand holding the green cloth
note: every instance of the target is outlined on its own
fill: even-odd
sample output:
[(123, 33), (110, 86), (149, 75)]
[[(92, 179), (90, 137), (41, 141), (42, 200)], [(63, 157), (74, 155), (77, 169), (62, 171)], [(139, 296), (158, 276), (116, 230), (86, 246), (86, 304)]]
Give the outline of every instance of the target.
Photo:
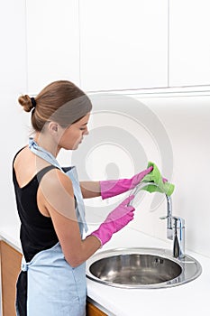
[(152, 171), (152, 169), (153, 167), (151, 166), (143, 172), (135, 174), (131, 179), (100, 181), (102, 199), (112, 198), (115, 195), (132, 190), (142, 181), (145, 175)]

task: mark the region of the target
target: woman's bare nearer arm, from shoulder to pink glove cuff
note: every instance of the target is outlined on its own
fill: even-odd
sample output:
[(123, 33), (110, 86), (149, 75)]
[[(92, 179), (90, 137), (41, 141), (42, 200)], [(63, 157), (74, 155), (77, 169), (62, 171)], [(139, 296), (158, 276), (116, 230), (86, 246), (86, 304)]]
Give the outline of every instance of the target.
[(81, 265), (101, 244), (94, 236), (81, 239), (72, 182), (66, 174), (54, 169), (42, 178), (41, 194), (68, 264)]

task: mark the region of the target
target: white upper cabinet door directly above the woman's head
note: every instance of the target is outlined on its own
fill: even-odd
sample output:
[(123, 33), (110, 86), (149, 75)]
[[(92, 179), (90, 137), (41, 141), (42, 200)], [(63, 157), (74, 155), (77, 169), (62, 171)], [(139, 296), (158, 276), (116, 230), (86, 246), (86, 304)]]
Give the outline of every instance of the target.
[(27, 0), (28, 92), (57, 79), (79, 84), (78, 0)]

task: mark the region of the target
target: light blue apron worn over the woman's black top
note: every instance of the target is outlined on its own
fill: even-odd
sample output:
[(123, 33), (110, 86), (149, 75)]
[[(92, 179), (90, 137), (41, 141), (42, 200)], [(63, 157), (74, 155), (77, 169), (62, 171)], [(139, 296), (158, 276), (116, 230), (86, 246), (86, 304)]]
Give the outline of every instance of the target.
[[(82, 237), (87, 231), (85, 206), (75, 167), (61, 168), (57, 160), (30, 139), (29, 147), (50, 164), (65, 172), (71, 179), (77, 200), (76, 213)], [(70, 240), (69, 240), (70, 242)], [(27, 271), (27, 316), (85, 316), (87, 300), (86, 264), (71, 267), (59, 243), (33, 256), (31, 262), (22, 261)], [(19, 316), (19, 311), (17, 316)]]

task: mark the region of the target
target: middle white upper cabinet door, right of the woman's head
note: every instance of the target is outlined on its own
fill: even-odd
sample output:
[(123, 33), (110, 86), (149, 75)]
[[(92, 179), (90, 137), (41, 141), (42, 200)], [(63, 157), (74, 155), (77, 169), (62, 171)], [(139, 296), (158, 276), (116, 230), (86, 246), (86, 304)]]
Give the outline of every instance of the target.
[(81, 0), (81, 87), (168, 84), (168, 0)]

